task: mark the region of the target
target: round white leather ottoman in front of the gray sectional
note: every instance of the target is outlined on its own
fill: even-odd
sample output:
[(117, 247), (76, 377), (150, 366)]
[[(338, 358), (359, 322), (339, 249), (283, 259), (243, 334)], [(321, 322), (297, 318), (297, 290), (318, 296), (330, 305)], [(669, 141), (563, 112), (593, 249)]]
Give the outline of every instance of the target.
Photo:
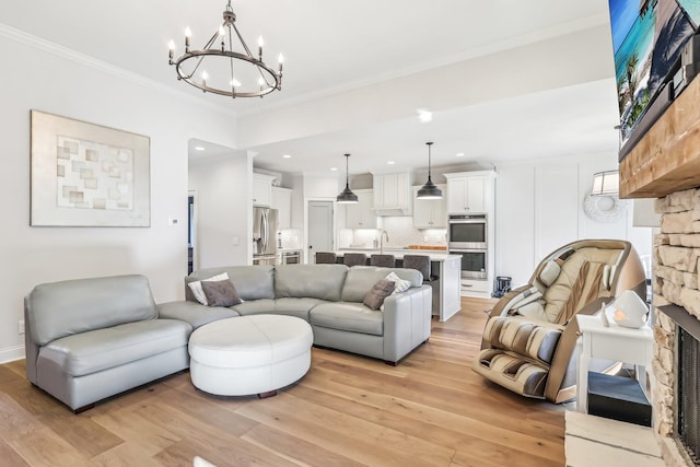
[(294, 316), (220, 319), (189, 337), (189, 375), (210, 394), (273, 396), (306, 374), (313, 341), (308, 323)]

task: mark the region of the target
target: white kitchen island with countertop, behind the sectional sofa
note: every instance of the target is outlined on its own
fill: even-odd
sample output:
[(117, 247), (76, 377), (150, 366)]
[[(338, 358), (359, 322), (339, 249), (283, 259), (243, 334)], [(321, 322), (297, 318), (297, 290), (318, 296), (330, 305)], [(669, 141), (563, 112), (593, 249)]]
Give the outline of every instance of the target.
[[(342, 262), (346, 253), (364, 253), (369, 258), (372, 254), (380, 254), (380, 250), (343, 248), (336, 252), (339, 262)], [(431, 275), (435, 277), (435, 279), (425, 283), (433, 289), (433, 316), (438, 316), (441, 322), (446, 322), (462, 308), (459, 294), (462, 257), (459, 255), (450, 255), (446, 252), (408, 248), (384, 248), (383, 253), (385, 255), (394, 255), (396, 257), (396, 267), (398, 268), (402, 266), (404, 255), (429, 256)]]

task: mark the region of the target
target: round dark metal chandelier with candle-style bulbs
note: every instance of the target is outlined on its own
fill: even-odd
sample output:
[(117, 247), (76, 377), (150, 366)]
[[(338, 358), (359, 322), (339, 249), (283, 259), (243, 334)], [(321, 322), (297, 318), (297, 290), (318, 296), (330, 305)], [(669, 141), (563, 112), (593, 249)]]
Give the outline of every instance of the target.
[[(282, 62), (278, 70), (262, 61), (262, 37), (258, 38), (257, 57), (250, 54), (235, 24), (236, 15), (231, 0), (223, 12), (223, 22), (209, 42), (199, 50), (190, 50), (191, 32), (185, 30), (185, 54), (175, 57), (175, 43), (170, 42), (170, 65), (175, 66), (177, 79), (203, 92), (229, 97), (262, 97), (282, 89)], [(243, 47), (234, 51), (234, 39)]]

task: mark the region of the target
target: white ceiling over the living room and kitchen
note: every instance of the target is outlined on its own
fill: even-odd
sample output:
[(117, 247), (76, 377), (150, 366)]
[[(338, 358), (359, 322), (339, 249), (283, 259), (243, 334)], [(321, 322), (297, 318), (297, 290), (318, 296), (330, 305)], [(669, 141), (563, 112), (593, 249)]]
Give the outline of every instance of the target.
[[(284, 54), (281, 92), (234, 101), (205, 95), (175, 79), (167, 65), (168, 40), (182, 47), (184, 28), (189, 26), (192, 46), (203, 44), (218, 27), (223, 0), (4, 1), (0, 23), (220, 105), (240, 118), (608, 23), (607, 0), (235, 0), (232, 4), (250, 48), (261, 34), (266, 59), (276, 63), (277, 55)], [(609, 75), (603, 80), (443, 108), (430, 124), (411, 116), (236, 150), (255, 151), (256, 166), (281, 172), (331, 166), (342, 171), (342, 154), (350, 152), (351, 173), (385, 170), (388, 161), (397, 168), (424, 167), (428, 140), (435, 142), (435, 166), (463, 160), (498, 163), (614, 153), (618, 116), (611, 50), (600, 54), (610, 55)], [(576, 50), (569, 50), (551, 59), (568, 67), (575, 57)], [(520, 79), (517, 70), (514, 79)], [(451, 91), (445, 85), (429, 92)], [(457, 153), (465, 155), (457, 159)]]

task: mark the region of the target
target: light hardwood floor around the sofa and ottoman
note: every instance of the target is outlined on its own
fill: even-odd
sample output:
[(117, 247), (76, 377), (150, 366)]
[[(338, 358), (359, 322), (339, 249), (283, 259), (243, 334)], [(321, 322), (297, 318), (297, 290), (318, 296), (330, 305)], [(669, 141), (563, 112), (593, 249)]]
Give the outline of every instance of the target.
[(74, 416), (0, 365), (1, 466), (564, 465), (564, 407), (470, 370), (492, 301), (465, 300), (398, 366), (313, 349), (268, 399), (213, 397), (179, 373)]

